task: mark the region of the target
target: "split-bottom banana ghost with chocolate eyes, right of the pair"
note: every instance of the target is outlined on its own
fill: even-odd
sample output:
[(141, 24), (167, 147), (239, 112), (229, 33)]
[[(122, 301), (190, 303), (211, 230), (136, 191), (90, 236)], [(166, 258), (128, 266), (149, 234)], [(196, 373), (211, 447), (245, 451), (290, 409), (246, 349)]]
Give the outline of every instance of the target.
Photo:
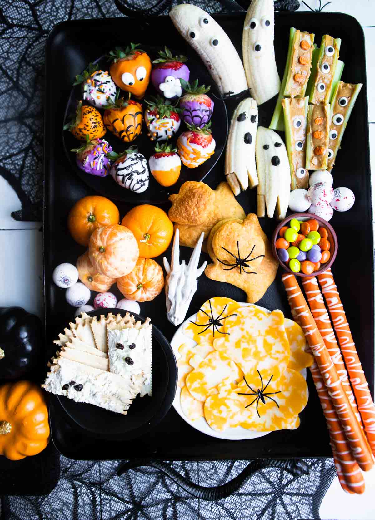
[(267, 214), (285, 218), (289, 204), (291, 174), (286, 148), (280, 136), (270, 128), (258, 127), (255, 147), (258, 173), (258, 217)]

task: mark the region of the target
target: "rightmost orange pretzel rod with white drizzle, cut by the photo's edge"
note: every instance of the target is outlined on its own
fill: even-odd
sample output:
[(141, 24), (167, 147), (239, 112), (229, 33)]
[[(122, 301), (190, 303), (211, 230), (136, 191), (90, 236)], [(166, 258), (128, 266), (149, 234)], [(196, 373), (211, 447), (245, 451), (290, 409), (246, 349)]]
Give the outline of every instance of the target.
[(319, 275), (318, 280), (338, 336), (353, 392), (357, 399), (358, 411), (363, 420), (372, 453), (375, 454), (375, 407), (331, 269), (327, 269)]

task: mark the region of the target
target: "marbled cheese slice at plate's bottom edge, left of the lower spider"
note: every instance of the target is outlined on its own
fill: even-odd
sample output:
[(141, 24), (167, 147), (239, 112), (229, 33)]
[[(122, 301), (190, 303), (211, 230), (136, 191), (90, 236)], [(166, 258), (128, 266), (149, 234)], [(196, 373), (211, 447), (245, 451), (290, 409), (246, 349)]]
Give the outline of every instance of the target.
[(204, 404), (204, 415), (212, 430), (222, 432), (235, 428), (246, 417), (246, 409), (234, 392), (236, 385), (228, 378), (218, 385), (218, 394), (209, 396)]

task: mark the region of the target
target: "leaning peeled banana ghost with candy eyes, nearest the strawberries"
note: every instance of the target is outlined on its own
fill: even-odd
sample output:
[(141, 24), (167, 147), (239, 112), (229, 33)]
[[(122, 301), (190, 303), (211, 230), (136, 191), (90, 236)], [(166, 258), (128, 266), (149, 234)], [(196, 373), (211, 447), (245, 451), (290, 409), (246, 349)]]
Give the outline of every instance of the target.
[(172, 7), (169, 16), (181, 36), (202, 58), (222, 96), (247, 90), (240, 56), (214, 18), (191, 4)]

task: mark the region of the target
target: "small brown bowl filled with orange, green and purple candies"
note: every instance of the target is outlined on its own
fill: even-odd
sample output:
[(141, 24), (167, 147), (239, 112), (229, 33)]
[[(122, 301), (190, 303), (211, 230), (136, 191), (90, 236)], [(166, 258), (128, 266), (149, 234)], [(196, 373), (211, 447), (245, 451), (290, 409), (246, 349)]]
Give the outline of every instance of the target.
[(304, 222), (292, 218), (289, 227), (280, 229), (275, 246), (281, 262), (291, 271), (302, 271), (305, 275), (319, 270), (331, 257), (328, 231), (315, 218)]

